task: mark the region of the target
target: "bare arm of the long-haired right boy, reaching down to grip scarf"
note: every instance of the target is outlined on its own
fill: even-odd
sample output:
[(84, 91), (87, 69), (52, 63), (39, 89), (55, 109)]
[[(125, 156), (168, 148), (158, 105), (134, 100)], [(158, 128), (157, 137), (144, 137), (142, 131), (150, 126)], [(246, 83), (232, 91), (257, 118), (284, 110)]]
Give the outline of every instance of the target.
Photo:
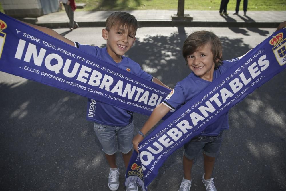
[[(140, 131), (144, 135), (146, 135), (146, 133), (150, 129), (152, 129), (169, 111), (170, 111), (170, 108), (160, 103), (157, 107), (155, 107), (154, 111), (152, 112), (148, 120), (145, 122), (143, 127), (140, 129)], [(143, 139), (144, 137), (142, 135), (137, 134), (132, 140), (133, 147), (137, 153), (139, 153), (138, 145)]]

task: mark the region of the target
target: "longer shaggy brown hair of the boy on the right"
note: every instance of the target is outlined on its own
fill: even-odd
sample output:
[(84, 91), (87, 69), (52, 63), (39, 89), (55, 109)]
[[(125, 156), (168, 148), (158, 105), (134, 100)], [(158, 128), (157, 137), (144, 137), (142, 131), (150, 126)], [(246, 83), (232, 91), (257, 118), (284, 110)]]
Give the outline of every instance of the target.
[[(200, 47), (210, 44), (213, 60), (215, 62), (215, 69), (223, 64), (222, 60), (222, 46), (219, 37), (210, 31), (196, 31), (191, 33), (184, 42), (182, 53), (185, 60), (187, 56), (196, 52)], [(218, 62), (216, 62), (216, 60)]]

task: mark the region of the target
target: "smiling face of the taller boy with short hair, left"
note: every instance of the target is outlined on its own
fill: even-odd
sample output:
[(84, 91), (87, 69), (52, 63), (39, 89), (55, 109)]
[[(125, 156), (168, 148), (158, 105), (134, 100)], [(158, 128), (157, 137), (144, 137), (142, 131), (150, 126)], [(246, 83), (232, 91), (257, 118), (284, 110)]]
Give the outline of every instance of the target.
[(108, 54), (118, 63), (133, 45), (136, 31), (130, 32), (127, 28), (111, 27), (109, 31), (102, 29), (102, 37), (106, 40)]

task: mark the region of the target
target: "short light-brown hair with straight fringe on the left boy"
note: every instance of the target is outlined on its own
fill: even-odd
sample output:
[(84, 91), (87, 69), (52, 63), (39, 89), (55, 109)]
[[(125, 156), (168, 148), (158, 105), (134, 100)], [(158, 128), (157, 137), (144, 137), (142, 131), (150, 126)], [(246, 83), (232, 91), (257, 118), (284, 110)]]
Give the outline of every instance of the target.
[(109, 15), (105, 22), (105, 29), (110, 30), (111, 27), (127, 29), (128, 32), (135, 32), (139, 27), (137, 19), (129, 13), (118, 11)]

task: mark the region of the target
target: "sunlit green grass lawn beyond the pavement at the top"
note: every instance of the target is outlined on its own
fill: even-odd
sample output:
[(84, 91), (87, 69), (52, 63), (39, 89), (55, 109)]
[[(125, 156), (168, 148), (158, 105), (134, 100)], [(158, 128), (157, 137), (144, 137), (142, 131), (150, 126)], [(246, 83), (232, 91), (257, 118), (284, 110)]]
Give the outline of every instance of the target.
[[(84, 9), (95, 10), (144, 10), (144, 9), (177, 9), (178, 1), (174, 0), (76, 0), (76, 3), (86, 3)], [(219, 10), (221, 0), (185, 0), (185, 10)], [(236, 1), (230, 0), (227, 9), (235, 10)], [(240, 10), (243, 9), (243, 1)], [(285, 11), (286, 0), (249, 0), (249, 11)]]

